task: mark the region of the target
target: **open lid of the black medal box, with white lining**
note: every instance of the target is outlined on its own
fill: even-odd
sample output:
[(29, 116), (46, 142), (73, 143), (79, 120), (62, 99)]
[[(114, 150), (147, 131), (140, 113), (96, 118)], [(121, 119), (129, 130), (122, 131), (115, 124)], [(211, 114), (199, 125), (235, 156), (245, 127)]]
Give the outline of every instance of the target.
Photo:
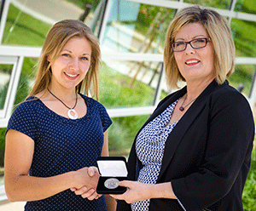
[(127, 177), (125, 157), (98, 157), (97, 166), (102, 177)]

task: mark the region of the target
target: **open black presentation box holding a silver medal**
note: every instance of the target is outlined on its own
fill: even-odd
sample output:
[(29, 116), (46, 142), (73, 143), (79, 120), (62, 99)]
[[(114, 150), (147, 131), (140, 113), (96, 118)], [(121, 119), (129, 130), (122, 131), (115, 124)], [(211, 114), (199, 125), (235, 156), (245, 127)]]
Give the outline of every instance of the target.
[(125, 157), (98, 157), (97, 167), (101, 174), (96, 187), (98, 194), (122, 194), (126, 191), (126, 187), (117, 184), (127, 180)]

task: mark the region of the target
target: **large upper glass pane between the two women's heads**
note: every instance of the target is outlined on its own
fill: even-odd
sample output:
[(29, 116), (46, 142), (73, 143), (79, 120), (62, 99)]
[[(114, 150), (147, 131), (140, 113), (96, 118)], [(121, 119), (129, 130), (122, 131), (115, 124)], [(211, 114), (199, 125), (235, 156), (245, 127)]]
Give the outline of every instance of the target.
[(173, 9), (117, 0), (110, 10), (102, 39), (103, 50), (163, 54)]

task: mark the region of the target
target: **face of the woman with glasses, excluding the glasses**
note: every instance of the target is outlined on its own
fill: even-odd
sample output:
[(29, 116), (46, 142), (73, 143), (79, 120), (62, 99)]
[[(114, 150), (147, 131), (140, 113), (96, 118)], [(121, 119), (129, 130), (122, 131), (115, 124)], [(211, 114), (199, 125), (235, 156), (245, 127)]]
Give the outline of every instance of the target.
[[(189, 42), (196, 38), (207, 38), (207, 31), (199, 23), (190, 23), (183, 26), (175, 37), (175, 42)], [(177, 67), (186, 82), (212, 81), (215, 78), (214, 48), (212, 42), (208, 42), (204, 48), (187, 48), (181, 52), (174, 52)]]

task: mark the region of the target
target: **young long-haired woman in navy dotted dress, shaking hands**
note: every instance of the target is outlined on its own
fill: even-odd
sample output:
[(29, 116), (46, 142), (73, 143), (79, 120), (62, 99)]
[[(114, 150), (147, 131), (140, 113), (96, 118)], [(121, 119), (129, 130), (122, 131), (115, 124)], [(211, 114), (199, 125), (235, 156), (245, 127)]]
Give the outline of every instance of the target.
[(6, 132), (5, 190), (11, 202), (27, 201), (25, 210), (107, 210), (93, 166), (108, 156), (112, 121), (87, 96), (98, 98), (99, 62), (99, 44), (83, 22), (61, 20), (49, 30), (35, 85)]

